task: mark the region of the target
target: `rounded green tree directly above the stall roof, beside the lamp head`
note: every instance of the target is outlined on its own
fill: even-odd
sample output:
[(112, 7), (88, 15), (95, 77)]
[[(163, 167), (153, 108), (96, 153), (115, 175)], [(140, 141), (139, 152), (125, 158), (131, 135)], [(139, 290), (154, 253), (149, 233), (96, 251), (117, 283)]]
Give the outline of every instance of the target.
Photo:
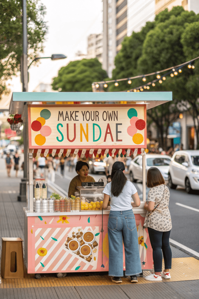
[(71, 61), (53, 78), (53, 89), (58, 91), (92, 91), (92, 82), (107, 77), (97, 58)]

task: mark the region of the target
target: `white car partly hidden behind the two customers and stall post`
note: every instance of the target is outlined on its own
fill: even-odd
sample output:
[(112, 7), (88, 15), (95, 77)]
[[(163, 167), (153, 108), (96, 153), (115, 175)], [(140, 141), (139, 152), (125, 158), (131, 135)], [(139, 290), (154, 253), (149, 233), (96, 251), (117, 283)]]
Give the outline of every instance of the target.
[[(160, 154), (146, 154), (146, 179), (147, 172), (150, 167), (157, 167), (165, 181), (168, 180), (168, 172), (169, 172), (169, 163), (171, 161), (171, 157), (167, 155)], [(139, 155), (131, 161), (129, 166), (129, 176), (130, 181), (136, 182), (137, 180), (142, 181), (142, 156)]]

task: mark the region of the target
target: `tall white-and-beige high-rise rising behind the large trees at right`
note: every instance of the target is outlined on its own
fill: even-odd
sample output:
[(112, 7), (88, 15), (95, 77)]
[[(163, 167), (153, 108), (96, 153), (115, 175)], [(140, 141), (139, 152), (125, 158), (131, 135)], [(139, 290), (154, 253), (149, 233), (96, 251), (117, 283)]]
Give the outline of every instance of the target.
[(108, 76), (115, 68), (115, 55), (124, 37), (139, 32), (155, 15), (174, 6), (199, 13), (199, 0), (103, 0), (103, 64)]

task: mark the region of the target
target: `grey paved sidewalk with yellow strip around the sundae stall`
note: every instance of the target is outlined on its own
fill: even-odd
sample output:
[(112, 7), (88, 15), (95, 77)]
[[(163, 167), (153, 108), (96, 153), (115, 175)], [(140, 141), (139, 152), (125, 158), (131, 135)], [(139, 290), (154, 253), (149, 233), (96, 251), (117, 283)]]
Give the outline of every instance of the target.
[[(3, 161), (4, 162), (4, 161)], [(0, 237), (21, 237), (24, 239), (25, 202), (17, 202), (20, 179), (7, 178), (4, 163), (0, 163)], [(23, 279), (2, 279), (0, 298), (14, 299), (121, 299), (121, 298), (199, 298), (199, 261), (178, 248), (172, 248), (172, 269), (170, 280), (160, 282), (146, 281), (138, 277), (138, 283), (130, 283), (122, 278), (123, 283), (112, 283), (107, 272), (70, 273), (66, 277), (57, 278), (54, 274), (42, 275), (36, 279), (34, 274), (27, 274), (24, 268)], [(1, 251), (1, 242), (0, 242)], [(1, 253), (0, 253), (1, 256)], [(148, 275), (144, 271), (144, 276)]]

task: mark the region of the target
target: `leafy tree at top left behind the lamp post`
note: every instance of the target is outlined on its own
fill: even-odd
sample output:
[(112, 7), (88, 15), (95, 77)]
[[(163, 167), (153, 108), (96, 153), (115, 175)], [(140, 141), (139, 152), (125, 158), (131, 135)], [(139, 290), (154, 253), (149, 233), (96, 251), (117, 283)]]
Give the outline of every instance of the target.
[[(44, 22), (46, 7), (40, 0), (27, 0), (28, 59), (43, 52), (47, 33)], [(6, 90), (6, 81), (20, 70), (23, 51), (22, 0), (0, 1), (0, 97)]]

